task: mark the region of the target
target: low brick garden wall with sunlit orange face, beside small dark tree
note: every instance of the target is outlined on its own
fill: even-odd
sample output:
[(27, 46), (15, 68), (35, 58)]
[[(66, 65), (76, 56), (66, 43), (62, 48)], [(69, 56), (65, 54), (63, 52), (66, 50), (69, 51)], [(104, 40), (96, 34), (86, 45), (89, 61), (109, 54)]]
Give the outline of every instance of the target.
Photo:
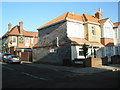
[(94, 66), (100, 66), (100, 65), (107, 65), (108, 59), (105, 58), (87, 58), (85, 61), (85, 66), (87, 67), (94, 67)]

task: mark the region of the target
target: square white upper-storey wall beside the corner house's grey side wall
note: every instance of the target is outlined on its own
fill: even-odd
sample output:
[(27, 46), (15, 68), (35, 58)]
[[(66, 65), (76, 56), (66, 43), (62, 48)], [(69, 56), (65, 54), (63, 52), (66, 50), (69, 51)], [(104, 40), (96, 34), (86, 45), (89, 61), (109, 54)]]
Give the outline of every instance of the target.
[(84, 26), (81, 23), (67, 21), (67, 36), (84, 38)]

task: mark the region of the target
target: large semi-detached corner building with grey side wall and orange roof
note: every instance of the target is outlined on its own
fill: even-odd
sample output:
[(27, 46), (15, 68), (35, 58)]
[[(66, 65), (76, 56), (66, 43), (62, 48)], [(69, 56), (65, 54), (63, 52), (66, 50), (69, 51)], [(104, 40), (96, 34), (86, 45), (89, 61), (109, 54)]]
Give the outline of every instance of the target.
[(33, 62), (62, 64), (84, 59), (84, 43), (89, 45), (87, 57), (115, 55), (113, 27), (110, 18), (102, 18), (101, 9), (94, 16), (67, 12), (37, 29)]

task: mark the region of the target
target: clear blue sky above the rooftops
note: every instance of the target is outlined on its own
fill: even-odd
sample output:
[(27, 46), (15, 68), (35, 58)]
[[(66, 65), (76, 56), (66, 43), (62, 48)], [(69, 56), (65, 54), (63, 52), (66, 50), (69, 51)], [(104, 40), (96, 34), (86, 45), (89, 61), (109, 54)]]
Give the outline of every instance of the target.
[(118, 22), (118, 2), (0, 2), (2, 28), (0, 37), (8, 30), (8, 23), (14, 27), (23, 21), (23, 28), (37, 32), (37, 28), (66, 12), (93, 15), (103, 9), (103, 19)]

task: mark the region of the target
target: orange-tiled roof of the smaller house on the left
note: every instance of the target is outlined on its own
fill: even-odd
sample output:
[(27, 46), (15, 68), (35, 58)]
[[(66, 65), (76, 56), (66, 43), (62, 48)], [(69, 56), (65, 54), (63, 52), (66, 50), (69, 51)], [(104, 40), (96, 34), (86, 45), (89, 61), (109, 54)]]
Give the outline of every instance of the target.
[(3, 35), (6, 36), (6, 35), (20, 35), (22, 32), (22, 35), (24, 36), (37, 36), (38, 35), (38, 32), (31, 32), (31, 31), (25, 31), (24, 29), (20, 30), (20, 27), (18, 25), (14, 26), (10, 31), (8, 31), (7, 33), (5, 33)]

